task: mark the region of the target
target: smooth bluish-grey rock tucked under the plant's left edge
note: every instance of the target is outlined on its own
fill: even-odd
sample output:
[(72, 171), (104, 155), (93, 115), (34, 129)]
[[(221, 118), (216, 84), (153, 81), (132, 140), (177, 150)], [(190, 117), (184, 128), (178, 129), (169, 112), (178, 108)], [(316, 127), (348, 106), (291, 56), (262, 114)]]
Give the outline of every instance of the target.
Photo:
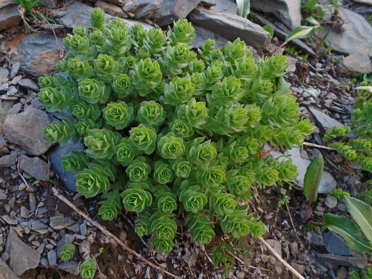
[(71, 155), (72, 151), (83, 151), (84, 145), (81, 142), (77, 142), (76, 144), (70, 139), (66, 145), (60, 146), (57, 145), (52, 152), (50, 153), (49, 159), (52, 163), (52, 166), (61, 180), (63, 180), (66, 188), (70, 191), (75, 191), (75, 184), (76, 178), (74, 177), (74, 173), (70, 171), (64, 171), (61, 165), (61, 161), (63, 157)]

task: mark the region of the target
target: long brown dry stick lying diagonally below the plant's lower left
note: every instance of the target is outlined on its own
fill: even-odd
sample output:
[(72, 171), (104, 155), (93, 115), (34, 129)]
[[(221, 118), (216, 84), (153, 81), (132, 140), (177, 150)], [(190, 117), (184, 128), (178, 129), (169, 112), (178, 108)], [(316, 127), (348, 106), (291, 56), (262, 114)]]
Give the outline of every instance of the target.
[(99, 230), (102, 231), (105, 235), (107, 235), (107, 236), (112, 237), (113, 239), (115, 239), (116, 242), (119, 243), (120, 246), (123, 247), (125, 250), (129, 251), (129, 253), (134, 254), (136, 257), (138, 257), (139, 259), (141, 259), (143, 262), (147, 263), (149, 266), (154, 267), (155, 269), (159, 270), (160, 272), (166, 273), (169, 276), (172, 276), (174, 278), (181, 279), (180, 277), (178, 277), (178, 276), (176, 276), (176, 275), (168, 272), (167, 270), (164, 270), (160, 266), (155, 266), (155, 264), (151, 263), (150, 261), (148, 261), (147, 259), (145, 259), (144, 257), (142, 257), (140, 254), (138, 254), (136, 251), (134, 251), (131, 248), (129, 248), (128, 246), (126, 246), (124, 243), (122, 243), (122, 241), (119, 240), (119, 238), (117, 238), (111, 232), (109, 232), (108, 230), (106, 230), (105, 227), (103, 227), (102, 225), (100, 225), (98, 222), (94, 221), (92, 218), (90, 218), (88, 215), (86, 215), (83, 211), (81, 211), (76, 206), (74, 206), (64, 196), (60, 195), (60, 193), (58, 193), (58, 191), (57, 191), (57, 189), (55, 189), (55, 187), (52, 187), (52, 190), (54, 192), (54, 195), (58, 199), (60, 199), (61, 201), (63, 201), (64, 203), (66, 203), (68, 206), (70, 206), (72, 209), (74, 209), (74, 211), (76, 211), (78, 214), (80, 214), (80, 216), (83, 216), (85, 219), (87, 219), (87, 221), (89, 221), (94, 227), (99, 228)]

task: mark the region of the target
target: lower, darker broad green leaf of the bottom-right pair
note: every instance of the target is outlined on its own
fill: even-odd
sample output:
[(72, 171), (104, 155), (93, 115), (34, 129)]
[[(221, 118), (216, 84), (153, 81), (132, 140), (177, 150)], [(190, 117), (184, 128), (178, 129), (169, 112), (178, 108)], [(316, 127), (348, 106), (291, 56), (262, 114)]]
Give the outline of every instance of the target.
[(350, 249), (362, 252), (372, 249), (372, 244), (360, 232), (359, 227), (349, 218), (335, 214), (323, 215), (328, 230), (341, 235)]

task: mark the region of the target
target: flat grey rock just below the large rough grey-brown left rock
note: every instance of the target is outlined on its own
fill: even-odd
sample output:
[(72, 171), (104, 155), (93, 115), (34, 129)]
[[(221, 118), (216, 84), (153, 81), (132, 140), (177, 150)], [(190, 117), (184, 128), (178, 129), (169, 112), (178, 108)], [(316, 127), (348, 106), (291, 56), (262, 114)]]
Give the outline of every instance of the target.
[(50, 168), (49, 164), (41, 160), (39, 157), (30, 158), (26, 155), (19, 156), (19, 167), (26, 171), (36, 180), (49, 179)]

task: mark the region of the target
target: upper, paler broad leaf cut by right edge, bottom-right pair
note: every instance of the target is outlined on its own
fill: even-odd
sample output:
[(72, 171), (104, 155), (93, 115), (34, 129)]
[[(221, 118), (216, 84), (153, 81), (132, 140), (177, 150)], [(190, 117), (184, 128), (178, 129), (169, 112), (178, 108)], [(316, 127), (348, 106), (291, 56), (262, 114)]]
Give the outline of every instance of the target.
[(372, 243), (372, 207), (356, 198), (345, 197), (345, 205), (351, 217)]

